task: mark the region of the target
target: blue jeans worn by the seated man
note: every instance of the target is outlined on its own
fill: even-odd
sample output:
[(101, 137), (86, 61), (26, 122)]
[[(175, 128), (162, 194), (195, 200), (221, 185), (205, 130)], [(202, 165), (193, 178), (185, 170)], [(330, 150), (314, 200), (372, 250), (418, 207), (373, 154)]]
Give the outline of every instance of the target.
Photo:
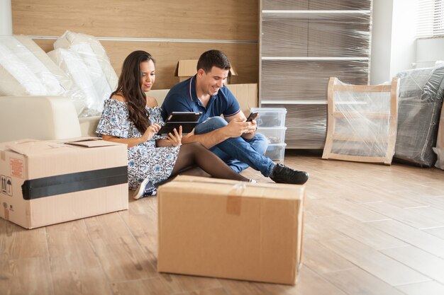
[[(205, 134), (228, 125), (223, 117), (211, 117), (194, 129), (194, 134)], [(235, 172), (248, 168), (259, 170), (265, 177), (270, 176), (276, 166), (270, 158), (263, 156), (267, 150), (268, 142), (262, 134), (255, 134), (252, 139), (231, 137), (213, 146), (216, 156), (225, 161)]]

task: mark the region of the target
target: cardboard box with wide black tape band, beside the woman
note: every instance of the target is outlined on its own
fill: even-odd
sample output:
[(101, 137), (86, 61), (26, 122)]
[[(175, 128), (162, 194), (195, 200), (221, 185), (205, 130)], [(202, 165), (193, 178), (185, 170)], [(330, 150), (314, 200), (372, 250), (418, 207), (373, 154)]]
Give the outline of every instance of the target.
[(128, 209), (126, 144), (0, 144), (0, 216), (26, 229)]

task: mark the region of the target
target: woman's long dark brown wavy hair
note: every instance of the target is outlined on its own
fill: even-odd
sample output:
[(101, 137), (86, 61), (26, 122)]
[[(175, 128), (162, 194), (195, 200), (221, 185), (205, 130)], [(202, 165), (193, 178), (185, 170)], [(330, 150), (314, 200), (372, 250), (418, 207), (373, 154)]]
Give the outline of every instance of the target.
[(154, 59), (148, 52), (138, 50), (131, 52), (123, 61), (121, 76), (118, 78), (116, 91), (111, 93), (110, 98), (116, 93), (122, 93), (128, 104), (129, 120), (141, 134), (151, 125), (148, 112), (146, 110), (146, 95), (142, 90), (140, 81), (142, 73), (140, 63), (148, 62)]

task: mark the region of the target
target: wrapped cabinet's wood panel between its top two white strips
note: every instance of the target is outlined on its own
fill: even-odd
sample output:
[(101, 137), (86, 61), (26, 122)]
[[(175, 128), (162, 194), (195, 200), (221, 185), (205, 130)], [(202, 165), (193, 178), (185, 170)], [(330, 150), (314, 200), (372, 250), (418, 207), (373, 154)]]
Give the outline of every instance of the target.
[(370, 13), (262, 13), (264, 57), (368, 57)]

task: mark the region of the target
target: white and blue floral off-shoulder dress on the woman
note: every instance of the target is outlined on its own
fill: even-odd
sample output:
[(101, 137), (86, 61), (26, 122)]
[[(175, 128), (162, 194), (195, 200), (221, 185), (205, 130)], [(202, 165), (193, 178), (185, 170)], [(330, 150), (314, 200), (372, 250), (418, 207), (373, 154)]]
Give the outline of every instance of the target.
[[(151, 123), (163, 125), (160, 108), (146, 107)], [(98, 134), (111, 135), (120, 138), (141, 137), (139, 130), (129, 120), (128, 105), (110, 98), (105, 100), (101, 113)], [(155, 140), (162, 139), (155, 135), (152, 139), (128, 148), (128, 186), (135, 190), (139, 184), (149, 178), (152, 183), (160, 183), (170, 177), (179, 154), (179, 146), (156, 147)]]

